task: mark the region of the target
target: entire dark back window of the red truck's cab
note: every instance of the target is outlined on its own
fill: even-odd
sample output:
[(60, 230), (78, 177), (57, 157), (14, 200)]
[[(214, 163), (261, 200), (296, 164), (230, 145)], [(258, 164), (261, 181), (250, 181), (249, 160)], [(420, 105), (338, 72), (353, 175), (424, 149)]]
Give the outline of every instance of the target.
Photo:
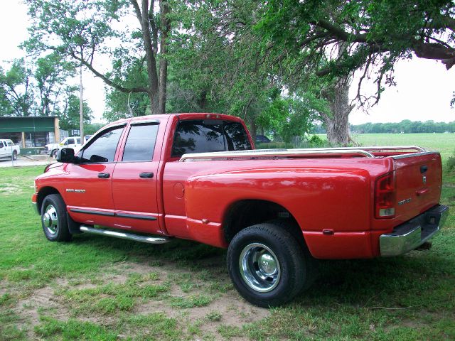
[(186, 153), (244, 151), (251, 149), (240, 122), (216, 119), (179, 121), (173, 140), (172, 157)]

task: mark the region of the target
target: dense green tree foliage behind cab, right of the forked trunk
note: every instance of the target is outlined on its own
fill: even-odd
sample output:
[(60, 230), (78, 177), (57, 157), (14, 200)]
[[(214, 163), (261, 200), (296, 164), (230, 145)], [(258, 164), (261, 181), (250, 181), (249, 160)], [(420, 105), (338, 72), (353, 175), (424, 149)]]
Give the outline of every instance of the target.
[(181, 1), (174, 6), (179, 26), (169, 55), (168, 104), (173, 110), (242, 117), (253, 136), (257, 129), (285, 139), (308, 131), (308, 104), (313, 102), (282, 94), (262, 37), (254, 31), (262, 11), (255, 0)]

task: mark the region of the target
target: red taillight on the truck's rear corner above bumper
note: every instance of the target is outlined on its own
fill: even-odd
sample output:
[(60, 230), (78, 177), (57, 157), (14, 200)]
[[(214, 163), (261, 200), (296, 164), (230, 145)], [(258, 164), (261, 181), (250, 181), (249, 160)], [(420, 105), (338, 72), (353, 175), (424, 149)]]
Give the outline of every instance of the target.
[(375, 182), (375, 217), (395, 217), (395, 173), (387, 173)]

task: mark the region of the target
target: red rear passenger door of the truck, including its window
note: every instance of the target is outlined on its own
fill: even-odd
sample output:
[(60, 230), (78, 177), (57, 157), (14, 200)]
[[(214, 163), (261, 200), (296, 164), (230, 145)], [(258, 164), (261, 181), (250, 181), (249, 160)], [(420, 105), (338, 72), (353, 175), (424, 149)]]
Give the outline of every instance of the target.
[(115, 227), (159, 233), (157, 171), (160, 150), (155, 151), (159, 120), (132, 122), (112, 176)]

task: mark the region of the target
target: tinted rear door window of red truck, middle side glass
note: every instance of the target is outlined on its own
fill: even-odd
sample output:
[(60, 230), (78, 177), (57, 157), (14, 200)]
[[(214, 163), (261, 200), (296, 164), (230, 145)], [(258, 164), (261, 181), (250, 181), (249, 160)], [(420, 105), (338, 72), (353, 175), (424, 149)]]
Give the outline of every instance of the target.
[(151, 161), (158, 127), (158, 124), (133, 125), (129, 130), (122, 161)]

